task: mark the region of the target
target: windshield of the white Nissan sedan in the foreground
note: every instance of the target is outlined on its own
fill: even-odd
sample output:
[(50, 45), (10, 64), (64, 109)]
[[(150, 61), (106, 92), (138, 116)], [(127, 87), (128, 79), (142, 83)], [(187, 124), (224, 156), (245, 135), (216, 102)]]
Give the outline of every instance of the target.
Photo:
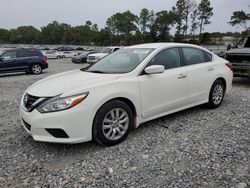
[(153, 49), (128, 48), (112, 53), (89, 67), (87, 72), (103, 74), (128, 73), (134, 70)]

